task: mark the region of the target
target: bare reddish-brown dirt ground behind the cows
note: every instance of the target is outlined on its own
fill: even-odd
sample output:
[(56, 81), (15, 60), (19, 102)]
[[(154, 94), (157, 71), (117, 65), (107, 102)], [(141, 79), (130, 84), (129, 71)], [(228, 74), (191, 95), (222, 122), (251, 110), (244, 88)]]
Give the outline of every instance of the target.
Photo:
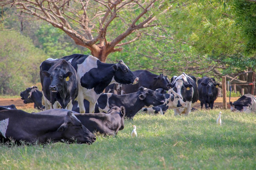
[[(234, 102), (237, 99), (239, 99), (239, 97), (231, 97), (230, 101)], [(222, 100), (223, 100), (222, 97), (218, 97), (217, 100), (214, 102), (214, 107), (223, 108)], [(228, 102), (228, 105), (227, 105), (228, 109), (230, 109), (229, 98), (227, 98), (227, 102)], [(33, 109), (34, 108), (34, 103), (24, 104), (23, 100), (21, 100), (20, 98), (9, 98), (9, 99), (0, 98), (0, 105), (1, 106), (11, 105), (11, 104), (14, 104), (17, 109)], [(201, 108), (199, 101), (196, 103), (194, 108), (196, 108), (196, 109)], [(203, 106), (203, 109), (205, 109), (204, 106)]]

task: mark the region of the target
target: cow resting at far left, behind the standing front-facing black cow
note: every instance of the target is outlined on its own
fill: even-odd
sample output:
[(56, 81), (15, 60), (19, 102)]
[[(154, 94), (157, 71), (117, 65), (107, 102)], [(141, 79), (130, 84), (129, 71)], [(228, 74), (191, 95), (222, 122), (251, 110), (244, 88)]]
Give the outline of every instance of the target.
[(37, 88), (37, 86), (28, 87), (23, 92), (20, 92), (21, 100), (24, 100), (23, 103), (34, 103), (34, 108), (38, 110), (44, 110), (42, 105), (42, 92)]

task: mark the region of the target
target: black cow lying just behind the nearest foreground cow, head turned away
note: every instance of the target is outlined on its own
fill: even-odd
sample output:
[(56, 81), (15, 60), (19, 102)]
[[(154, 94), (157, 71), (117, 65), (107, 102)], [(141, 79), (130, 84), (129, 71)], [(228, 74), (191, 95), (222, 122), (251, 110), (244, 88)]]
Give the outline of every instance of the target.
[[(42, 115), (65, 115), (68, 110), (64, 109), (53, 109), (46, 110), (43, 112), (35, 113)], [(118, 130), (124, 129), (124, 115), (125, 108), (123, 106), (112, 107), (107, 114), (106, 113), (89, 113), (74, 115), (81, 121), (81, 123), (88, 128), (91, 132), (99, 132), (101, 134), (115, 135)]]

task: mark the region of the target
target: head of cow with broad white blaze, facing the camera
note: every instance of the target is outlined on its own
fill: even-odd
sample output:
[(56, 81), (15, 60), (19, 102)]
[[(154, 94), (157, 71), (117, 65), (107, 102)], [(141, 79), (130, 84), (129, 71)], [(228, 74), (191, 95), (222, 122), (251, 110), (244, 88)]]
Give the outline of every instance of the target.
[(168, 88), (172, 88), (173, 91), (178, 93), (182, 97), (182, 100), (184, 102), (192, 100), (192, 97), (193, 97), (192, 84), (189, 84), (187, 82), (184, 82), (182, 79), (179, 79), (172, 84), (167, 84), (166, 86)]

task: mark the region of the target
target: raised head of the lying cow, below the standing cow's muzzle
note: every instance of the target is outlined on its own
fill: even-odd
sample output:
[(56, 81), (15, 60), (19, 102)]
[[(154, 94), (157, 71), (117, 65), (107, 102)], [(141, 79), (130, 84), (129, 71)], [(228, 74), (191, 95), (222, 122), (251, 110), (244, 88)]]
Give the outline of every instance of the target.
[(162, 105), (165, 100), (165, 95), (144, 87), (140, 87), (138, 93), (138, 99), (144, 101), (145, 107)]

